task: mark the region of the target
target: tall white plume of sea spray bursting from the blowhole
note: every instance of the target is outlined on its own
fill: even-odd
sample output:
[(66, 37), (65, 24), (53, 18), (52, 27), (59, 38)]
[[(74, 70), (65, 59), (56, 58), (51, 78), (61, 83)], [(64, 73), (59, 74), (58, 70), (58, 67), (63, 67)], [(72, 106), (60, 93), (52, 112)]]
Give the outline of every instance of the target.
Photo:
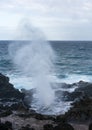
[(32, 77), (40, 103), (50, 106), (54, 102), (54, 91), (49, 74), (53, 72), (54, 52), (43, 33), (32, 25), (22, 24), (18, 39), (31, 41), (12, 43), (9, 54), (21, 71)]

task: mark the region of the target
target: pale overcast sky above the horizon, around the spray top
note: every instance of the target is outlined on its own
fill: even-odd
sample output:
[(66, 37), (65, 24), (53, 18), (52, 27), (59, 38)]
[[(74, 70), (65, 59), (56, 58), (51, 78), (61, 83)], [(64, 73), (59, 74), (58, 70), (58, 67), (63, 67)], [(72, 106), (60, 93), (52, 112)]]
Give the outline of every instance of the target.
[(92, 40), (92, 0), (1, 0), (0, 40), (12, 40), (25, 19), (48, 40)]

